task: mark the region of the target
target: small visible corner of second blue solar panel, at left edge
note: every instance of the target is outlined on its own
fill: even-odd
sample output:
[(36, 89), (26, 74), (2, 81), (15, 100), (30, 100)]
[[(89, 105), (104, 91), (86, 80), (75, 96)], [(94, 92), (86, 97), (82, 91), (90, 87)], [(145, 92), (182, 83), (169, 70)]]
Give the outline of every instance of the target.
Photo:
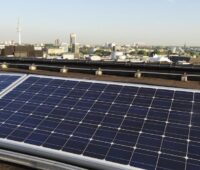
[(14, 74), (0, 74), (0, 93), (20, 77)]

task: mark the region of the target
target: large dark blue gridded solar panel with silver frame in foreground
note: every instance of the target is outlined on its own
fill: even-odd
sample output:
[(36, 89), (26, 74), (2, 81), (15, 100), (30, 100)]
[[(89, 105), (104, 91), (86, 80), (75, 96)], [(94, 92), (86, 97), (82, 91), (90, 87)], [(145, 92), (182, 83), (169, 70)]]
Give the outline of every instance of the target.
[(199, 96), (29, 76), (0, 100), (0, 145), (89, 168), (200, 169)]

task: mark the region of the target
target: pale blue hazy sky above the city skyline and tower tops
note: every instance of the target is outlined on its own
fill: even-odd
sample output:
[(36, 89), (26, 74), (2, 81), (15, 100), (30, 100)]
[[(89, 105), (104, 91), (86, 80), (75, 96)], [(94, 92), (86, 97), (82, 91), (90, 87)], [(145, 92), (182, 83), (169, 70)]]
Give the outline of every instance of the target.
[(200, 45), (200, 0), (0, 0), (0, 41)]

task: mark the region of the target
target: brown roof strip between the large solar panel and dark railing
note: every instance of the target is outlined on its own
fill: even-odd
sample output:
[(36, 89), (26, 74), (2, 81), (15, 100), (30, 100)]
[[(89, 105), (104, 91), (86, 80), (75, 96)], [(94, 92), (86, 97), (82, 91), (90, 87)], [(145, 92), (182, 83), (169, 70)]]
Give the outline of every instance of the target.
[(112, 81), (112, 82), (123, 82), (123, 83), (134, 83), (134, 84), (147, 84), (147, 85), (156, 85), (156, 86), (166, 86), (166, 87), (177, 87), (185, 89), (200, 89), (200, 81), (188, 81), (182, 82), (179, 80), (172, 79), (163, 79), (163, 78), (151, 78), (151, 77), (142, 77), (140, 79), (134, 77), (124, 77), (124, 76), (114, 76), (114, 75), (102, 75), (95, 76), (92, 74), (85, 73), (72, 73), (67, 74), (53, 72), (53, 71), (44, 71), (36, 70), (29, 71), (25, 69), (13, 69), (9, 68), (6, 71), (1, 70), (2, 72), (13, 72), (13, 73), (27, 73), (27, 74), (38, 74), (38, 75), (48, 75), (55, 77), (67, 77), (67, 78), (78, 78), (78, 79), (88, 79), (88, 80), (100, 80), (100, 81)]

